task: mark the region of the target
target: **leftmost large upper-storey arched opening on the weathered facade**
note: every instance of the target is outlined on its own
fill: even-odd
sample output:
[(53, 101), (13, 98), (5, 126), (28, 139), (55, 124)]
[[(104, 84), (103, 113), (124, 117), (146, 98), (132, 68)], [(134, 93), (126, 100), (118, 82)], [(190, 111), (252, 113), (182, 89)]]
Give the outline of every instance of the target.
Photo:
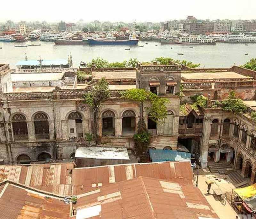
[(12, 117), (12, 130), (14, 140), (28, 139), (28, 127), (26, 117), (20, 113)]

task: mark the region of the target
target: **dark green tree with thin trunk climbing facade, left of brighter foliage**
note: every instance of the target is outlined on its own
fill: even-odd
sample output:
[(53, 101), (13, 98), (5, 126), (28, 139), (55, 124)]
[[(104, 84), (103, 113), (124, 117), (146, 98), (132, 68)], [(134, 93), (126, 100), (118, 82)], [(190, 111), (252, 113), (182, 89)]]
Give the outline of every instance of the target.
[(93, 134), (96, 140), (100, 107), (110, 97), (108, 85), (106, 78), (101, 78), (96, 84), (89, 87), (89, 91), (84, 95), (84, 103), (90, 106), (93, 112)]

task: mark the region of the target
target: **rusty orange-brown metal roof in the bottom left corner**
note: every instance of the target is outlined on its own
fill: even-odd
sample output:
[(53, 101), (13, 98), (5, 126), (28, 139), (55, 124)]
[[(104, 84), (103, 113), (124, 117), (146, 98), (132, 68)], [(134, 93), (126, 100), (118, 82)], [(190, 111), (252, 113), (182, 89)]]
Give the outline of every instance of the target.
[[(0, 212), (3, 219), (68, 219), (70, 205), (63, 198), (22, 188), (15, 184), (6, 186), (0, 197)], [(46, 198), (47, 197), (47, 198)]]

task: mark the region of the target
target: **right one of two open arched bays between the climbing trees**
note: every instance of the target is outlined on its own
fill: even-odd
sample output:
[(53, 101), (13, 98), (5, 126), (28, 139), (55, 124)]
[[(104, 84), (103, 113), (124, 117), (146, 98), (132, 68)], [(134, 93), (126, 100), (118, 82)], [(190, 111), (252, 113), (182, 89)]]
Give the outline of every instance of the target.
[(122, 119), (122, 135), (130, 136), (135, 134), (136, 119), (132, 110), (126, 110)]

